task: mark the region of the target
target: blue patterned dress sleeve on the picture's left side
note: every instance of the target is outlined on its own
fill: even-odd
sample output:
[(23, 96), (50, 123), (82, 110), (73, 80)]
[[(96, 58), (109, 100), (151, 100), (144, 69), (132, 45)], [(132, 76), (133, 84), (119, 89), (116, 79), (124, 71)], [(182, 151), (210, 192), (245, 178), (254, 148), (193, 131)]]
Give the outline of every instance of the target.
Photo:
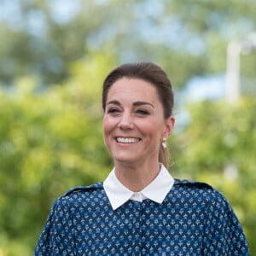
[(75, 255), (73, 219), (67, 201), (62, 198), (51, 207), (34, 256)]

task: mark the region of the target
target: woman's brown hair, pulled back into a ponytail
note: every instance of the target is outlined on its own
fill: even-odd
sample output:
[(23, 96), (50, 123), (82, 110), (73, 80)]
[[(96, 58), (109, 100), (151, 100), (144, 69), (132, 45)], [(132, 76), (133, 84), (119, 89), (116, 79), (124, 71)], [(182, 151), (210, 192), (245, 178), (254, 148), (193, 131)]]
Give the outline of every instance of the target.
[[(122, 78), (142, 79), (154, 85), (159, 96), (160, 102), (164, 108), (164, 117), (167, 119), (172, 115), (173, 108), (173, 91), (170, 79), (166, 72), (158, 65), (152, 62), (135, 62), (125, 63), (113, 69), (103, 82), (102, 90), (102, 108), (105, 111), (108, 90), (117, 80)], [(166, 167), (169, 166), (169, 151), (168, 148), (160, 147), (159, 161)]]

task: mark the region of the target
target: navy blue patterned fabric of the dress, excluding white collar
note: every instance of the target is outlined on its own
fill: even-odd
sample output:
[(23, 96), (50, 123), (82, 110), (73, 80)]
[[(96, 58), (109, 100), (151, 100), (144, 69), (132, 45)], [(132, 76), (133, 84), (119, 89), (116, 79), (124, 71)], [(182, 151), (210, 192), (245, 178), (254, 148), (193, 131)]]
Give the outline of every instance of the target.
[(34, 255), (249, 255), (229, 203), (206, 183), (175, 180), (162, 204), (113, 211), (102, 183), (55, 201)]

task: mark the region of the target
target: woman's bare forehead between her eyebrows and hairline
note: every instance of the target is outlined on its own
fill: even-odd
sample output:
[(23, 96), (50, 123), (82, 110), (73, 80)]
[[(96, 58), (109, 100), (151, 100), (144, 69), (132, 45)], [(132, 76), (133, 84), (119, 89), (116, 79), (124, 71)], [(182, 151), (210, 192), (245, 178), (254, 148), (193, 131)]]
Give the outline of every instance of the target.
[(159, 101), (155, 86), (143, 79), (122, 78), (117, 80), (112, 84), (108, 91), (108, 100), (113, 99), (114, 97)]

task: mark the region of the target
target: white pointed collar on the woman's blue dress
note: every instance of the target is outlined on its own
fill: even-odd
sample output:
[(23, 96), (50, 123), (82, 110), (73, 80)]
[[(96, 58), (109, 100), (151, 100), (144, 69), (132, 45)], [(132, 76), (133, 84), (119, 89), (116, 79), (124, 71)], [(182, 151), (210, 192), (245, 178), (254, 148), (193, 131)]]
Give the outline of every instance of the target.
[(172, 189), (173, 183), (174, 179), (172, 175), (166, 170), (166, 167), (161, 164), (158, 176), (140, 192), (134, 193), (120, 183), (115, 176), (114, 169), (103, 182), (103, 188), (105, 189), (113, 210), (115, 210), (130, 199), (143, 201), (143, 199), (148, 198), (160, 204), (164, 201), (170, 189)]

